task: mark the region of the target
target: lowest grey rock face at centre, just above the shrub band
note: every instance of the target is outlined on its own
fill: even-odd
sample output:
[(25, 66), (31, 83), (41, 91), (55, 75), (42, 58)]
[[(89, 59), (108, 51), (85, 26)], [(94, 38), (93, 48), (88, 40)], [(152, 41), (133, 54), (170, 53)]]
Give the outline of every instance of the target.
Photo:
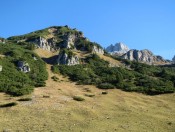
[(80, 62), (78, 56), (69, 57), (66, 53), (61, 53), (58, 55), (57, 64), (77, 65), (80, 64)]

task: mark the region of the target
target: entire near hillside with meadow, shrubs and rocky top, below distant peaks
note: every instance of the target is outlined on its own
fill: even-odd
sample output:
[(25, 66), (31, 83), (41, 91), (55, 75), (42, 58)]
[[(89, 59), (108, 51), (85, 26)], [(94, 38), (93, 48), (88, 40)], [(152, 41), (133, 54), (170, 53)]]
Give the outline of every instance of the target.
[(175, 129), (174, 65), (111, 56), (68, 26), (3, 39), (0, 91), (0, 131)]

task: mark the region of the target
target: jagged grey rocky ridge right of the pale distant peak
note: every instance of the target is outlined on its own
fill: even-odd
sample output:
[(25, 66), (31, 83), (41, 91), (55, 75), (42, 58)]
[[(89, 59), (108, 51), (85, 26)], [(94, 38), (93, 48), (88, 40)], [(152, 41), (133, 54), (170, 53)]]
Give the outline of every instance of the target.
[(144, 62), (147, 64), (165, 64), (168, 63), (166, 60), (164, 60), (161, 56), (155, 56), (151, 51), (149, 50), (130, 50), (123, 56), (121, 56), (123, 59), (128, 59), (131, 61), (139, 61)]

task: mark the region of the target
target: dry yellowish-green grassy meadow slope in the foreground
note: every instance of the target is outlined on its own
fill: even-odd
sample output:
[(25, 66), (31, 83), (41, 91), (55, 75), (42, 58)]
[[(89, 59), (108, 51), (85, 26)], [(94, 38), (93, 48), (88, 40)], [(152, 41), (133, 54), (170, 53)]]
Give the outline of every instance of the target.
[[(48, 54), (48, 57), (50, 55)], [(60, 82), (51, 79), (54, 75), (47, 65), (47, 86), (35, 89), (32, 101), (18, 102), (12, 108), (0, 108), (0, 131), (174, 131), (175, 94), (147, 96), (139, 93), (102, 90), (94, 86), (75, 85), (67, 78), (58, 76)], [(62, 81), (61, 81), (62, 80)], [(85, 97), (89, 88), (95, 97)], [(50, 98), (43, 98), (50, 96)], [(82, 95), (84, 102), (72, 99)], [(0, 94), (0, 104), (16, 101), (21, 97)]]

